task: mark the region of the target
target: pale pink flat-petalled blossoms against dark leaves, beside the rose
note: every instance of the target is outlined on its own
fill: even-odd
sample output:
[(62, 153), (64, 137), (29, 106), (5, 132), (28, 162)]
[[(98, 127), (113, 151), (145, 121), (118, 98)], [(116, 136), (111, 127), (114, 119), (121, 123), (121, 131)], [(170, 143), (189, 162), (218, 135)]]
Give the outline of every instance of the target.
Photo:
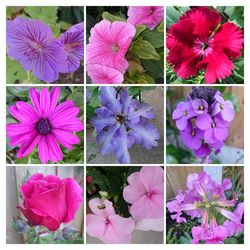
[(135, 229), (163, 231), (163, 174), (161, 167), (142, 167), (128, 177), (123, 198), (131, 205), (129, 218), (117, 214), (111, 201), (91, 199), (87, 233), (104, 243), (129, 243)]

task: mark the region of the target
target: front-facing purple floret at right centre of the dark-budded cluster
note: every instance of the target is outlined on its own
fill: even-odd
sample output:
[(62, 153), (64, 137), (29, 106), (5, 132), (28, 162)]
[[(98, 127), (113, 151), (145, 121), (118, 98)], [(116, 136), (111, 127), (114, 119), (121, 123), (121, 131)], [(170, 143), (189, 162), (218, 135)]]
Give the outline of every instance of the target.
[(204, 130), (204, 139), (208, 143), (224, 141), (228, 136), (229, 123), (221, 117), (215, 116), (213, 119), (208, 114), (199, 115), (196, 119), (196, 125)]

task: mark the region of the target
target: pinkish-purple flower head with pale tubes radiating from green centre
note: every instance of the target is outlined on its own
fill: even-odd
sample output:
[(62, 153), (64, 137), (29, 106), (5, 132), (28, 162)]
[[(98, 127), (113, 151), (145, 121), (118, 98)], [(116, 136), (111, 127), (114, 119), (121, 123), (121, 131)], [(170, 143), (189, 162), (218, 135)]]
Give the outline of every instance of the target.
[[(193, 243), (223, 243), (227, 237), (243, 231), (244, 204), (237, 204), (237, 197), (229, 200), (225, 195), (225, 191), (232, 188), (230, 179), (217, 184), (205, 172), (200, 172), (190, 174), (186, 184), (185, 192), (179, 190), (167, 208), (177, 223), (186, 222), (183, 212), (192, 218), (201, 218), (201, 225), (192, 228)], [(221, 216), (224, 220), (218, 220)]]

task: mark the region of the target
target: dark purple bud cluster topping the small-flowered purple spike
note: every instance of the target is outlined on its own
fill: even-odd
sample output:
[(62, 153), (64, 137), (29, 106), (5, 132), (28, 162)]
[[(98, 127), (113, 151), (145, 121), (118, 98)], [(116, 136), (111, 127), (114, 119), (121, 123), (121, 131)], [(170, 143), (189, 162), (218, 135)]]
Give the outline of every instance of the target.
[(212, 87), (193, 87), (189, 96), (191, 99), (203, 99), (208, 105), (211, 105), (215, 101), (215, 94), (217, 90)]

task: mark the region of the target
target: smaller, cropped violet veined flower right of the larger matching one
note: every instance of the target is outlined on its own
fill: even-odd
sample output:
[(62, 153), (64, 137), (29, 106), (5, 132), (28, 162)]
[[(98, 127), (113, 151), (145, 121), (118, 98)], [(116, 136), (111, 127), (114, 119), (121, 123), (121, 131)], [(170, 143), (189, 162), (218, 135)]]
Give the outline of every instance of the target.
[(57, 39), (57, 42), (67, 54), (67, 68), (64, 73), (77, 70), (84, 53), (84, 23), (73, 25)]

